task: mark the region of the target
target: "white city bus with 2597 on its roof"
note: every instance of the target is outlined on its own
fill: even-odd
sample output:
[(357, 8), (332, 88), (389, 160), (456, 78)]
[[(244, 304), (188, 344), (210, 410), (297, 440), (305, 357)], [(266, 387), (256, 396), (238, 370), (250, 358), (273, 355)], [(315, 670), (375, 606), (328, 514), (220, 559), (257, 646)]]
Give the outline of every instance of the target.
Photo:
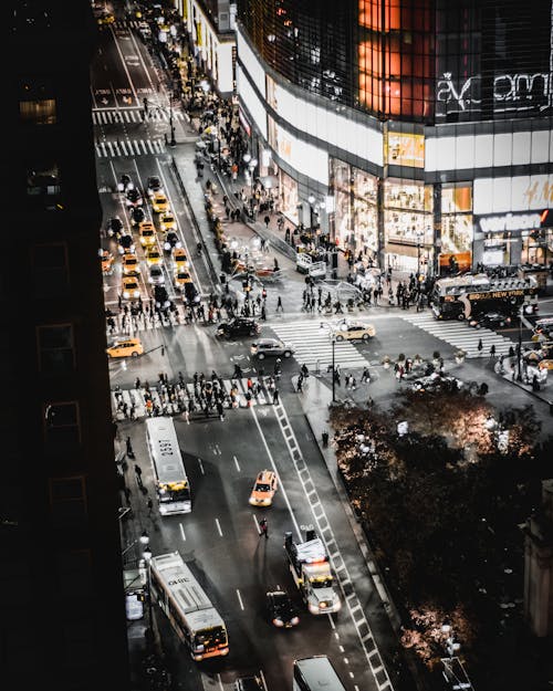
[(173, 418), (146, 420), (146, 439), (161, 516), (191, 511), (190, 485)]

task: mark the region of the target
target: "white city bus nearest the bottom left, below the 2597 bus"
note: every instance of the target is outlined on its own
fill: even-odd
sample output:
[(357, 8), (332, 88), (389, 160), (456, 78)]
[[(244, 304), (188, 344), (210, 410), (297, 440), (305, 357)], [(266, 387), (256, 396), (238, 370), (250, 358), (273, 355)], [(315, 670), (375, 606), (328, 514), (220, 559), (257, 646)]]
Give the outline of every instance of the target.
[(228, 655), (225, 621), (178, 552), (149, 559), (149, 587), (194, 660)]

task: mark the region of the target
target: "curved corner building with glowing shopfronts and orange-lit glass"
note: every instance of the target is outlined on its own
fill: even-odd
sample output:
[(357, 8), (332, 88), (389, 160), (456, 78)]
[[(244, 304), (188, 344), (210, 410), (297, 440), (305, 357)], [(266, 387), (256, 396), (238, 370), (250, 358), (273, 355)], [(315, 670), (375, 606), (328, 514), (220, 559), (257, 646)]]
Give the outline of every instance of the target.
[[(547, 264), (551, 0), (241, 0), (237, 88), (283, 212), (380, 268)], [(315, 219), (315, 220), (314, 220)]]

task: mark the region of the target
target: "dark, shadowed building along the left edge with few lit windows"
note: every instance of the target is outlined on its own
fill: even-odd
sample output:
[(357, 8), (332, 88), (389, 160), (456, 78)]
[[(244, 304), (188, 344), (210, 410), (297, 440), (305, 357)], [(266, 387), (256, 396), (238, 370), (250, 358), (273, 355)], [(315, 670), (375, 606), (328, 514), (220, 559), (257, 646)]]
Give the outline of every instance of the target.
[[(87, 0), (4, 15), (4, 689), (127, 689)], [(8, 256), (9, 254), (9, 256)]]

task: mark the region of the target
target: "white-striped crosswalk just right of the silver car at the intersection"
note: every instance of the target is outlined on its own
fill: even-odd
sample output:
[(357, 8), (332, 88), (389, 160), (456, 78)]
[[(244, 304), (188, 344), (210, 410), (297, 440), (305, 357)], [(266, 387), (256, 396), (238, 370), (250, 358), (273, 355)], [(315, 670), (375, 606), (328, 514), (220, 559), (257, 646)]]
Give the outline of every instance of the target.
[[(340, 320), (325, 322), (328, 326), (335, 326)], [(294, 357), (299, 363), (307, 367), (326, 369), (332, 366), (333, 344), (330, 328), (321, 327), (321, 321), (300, 321), (271, 324), (276, 336), (285, 343), (295, 346)], [(368, 360), (348, 341), (334, 344), (334, 363), (341, 367), (365, 367)]]

